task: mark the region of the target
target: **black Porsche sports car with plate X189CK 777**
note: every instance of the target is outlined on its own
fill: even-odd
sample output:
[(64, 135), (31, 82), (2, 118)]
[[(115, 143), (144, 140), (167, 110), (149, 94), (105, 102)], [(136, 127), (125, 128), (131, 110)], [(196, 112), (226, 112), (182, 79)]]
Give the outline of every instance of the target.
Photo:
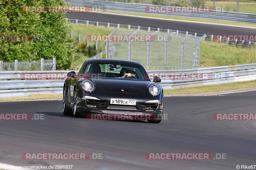
[(163, 88), (153, 82), (140, 63), (117, 59), (88, 59), (79, 72), (68, 73), (63, 87), (63, 114), (80, 117), (103, 115), (152, 115), (150, 123), (163, 117)]

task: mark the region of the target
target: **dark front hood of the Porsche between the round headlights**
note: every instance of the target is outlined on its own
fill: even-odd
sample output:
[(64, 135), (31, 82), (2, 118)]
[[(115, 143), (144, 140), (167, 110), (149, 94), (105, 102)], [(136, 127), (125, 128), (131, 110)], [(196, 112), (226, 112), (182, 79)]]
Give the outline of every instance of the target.
[(150, 81), (126, 78), (101, 78), (91, 80), (96, 87), (106, 92), (117, 93), (142, 93), (150, 83)]

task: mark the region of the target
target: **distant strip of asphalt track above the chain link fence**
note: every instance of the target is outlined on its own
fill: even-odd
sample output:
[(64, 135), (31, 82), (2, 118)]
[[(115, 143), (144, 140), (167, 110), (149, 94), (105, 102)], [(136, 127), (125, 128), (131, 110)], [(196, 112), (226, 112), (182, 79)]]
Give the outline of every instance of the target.
[(181, 21), (169, 21), (169, 20), (151, 19), (151, 18), (139, 18), (139, 17), (112, 15), (112, 14), (105, 14), (105, 13), (102, 14), (102, 13), (95, 13), (95, 12), (67, 13), (66, 17), (74, 18), (74, 19), (100, 21), (100, 22), (169, 28), (174, 30), (185, 30), (185, 31), (197, 32), (197, 33), (210, 33), (210, 34), (219, 34), (219, 35), (241, 35), (241, 34), (254, 35), (256, 32), (256, 30), (252, 28), (211, 25), (211, 24), (201, 24), (201, 23), (181, 22)]

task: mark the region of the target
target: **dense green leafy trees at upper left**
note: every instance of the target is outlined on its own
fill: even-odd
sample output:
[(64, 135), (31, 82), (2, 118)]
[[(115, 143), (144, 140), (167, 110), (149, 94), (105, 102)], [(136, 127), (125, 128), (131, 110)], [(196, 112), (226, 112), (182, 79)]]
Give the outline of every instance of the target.
[(0, 35), (45, 37), (41, 41), (0, 42), (0, 60), (36, 60), (56, 57), (57, 69), (68, 69), (76, 59), (76, 45), (65, 13), (25, 13), (23, 6), (63, 6), (62, 0), (0, 0)]

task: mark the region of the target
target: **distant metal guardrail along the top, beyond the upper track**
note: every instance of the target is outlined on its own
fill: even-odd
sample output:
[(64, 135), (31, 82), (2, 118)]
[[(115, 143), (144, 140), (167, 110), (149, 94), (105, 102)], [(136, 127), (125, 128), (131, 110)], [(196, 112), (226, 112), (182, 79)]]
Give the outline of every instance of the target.
[[(123, 2), (108, 2), (108, 1), (89, 1), (89, 0), (72, 0), (67, 1), (70, 5), (76, 6), (104, 6), (110, 11), (121, 11), (121, 12), (134, 12), (150, 14), (146, 12), (146, 6), (154, 6), (149, 4), (135, 4), (135, 3), (123, 3)], [(212, 19), (221, 21), (233, 21), (233, 22), (244, 22), (250, 24), (256, 24), (256, 14), (242, 13), (242, 12), (231, 12), (231, 11), (212, 11), (209, 13), (153, 13), (156, 15), (167, 15), (174, 17), (188, 17), (188, 18), (201, 18), (201, 19)]]

